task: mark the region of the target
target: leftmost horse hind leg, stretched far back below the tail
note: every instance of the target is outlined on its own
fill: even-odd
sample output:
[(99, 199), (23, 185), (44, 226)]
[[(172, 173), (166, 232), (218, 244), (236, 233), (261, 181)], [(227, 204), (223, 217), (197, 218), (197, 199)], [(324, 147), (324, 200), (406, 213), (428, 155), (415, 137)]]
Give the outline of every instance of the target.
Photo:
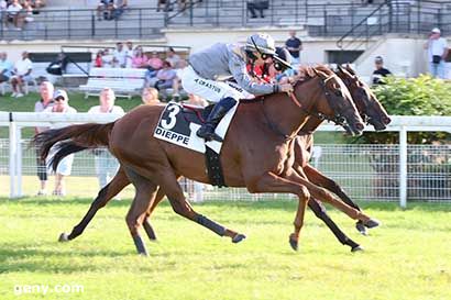
[(97, 198), (91, 203), (88, 212), (85, 214), (80, 223), (78, 223), (70, 232), (70, 234), (62, 233), (59, 235), (59, 242), (66, 242), (79, 236), (96, 215), (97, 211), (103, 208), (108, 201), (117, 196), (124, 187), (130, 185), (130, 180), (121, 167), (113, 179), (105, 186), (98, 193)]

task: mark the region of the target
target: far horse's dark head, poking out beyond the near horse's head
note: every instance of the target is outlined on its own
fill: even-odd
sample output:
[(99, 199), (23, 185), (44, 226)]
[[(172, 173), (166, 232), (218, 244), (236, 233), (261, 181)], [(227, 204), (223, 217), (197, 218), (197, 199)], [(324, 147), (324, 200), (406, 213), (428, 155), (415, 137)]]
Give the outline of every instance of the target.
[(349, 65), (345, 68), (339, 65), (337, 75), (349, 88), (362, 119), (372, 124), (376, 131), (385, 130), (392, 120), (370, 87)]

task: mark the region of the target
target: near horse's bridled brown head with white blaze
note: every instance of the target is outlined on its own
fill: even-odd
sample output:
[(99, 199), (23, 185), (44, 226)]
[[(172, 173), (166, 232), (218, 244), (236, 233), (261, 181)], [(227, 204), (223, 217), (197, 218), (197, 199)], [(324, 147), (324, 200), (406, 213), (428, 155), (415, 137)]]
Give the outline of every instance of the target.
[[(321, 90), (320, 98), (314, 103), (310, 111), (316, 112), (316, 116), (343, 126), (346, 133), (351, 135), (362, 134), (364, 129), (362, 118), (343, 81), (333, 71), (323, 66), (308, 68), (306, 73), (308, 77), (319, 80)], [(299, 86), (296, 87), (295, 92), (299, 97), (301, 96), (302, 91), (299, 89)]]

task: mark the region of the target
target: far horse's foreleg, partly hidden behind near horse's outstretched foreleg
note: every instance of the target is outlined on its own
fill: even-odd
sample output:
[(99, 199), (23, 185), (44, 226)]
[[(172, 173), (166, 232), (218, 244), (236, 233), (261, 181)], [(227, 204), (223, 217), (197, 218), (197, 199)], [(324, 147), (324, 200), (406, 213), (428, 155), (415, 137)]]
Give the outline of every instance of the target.
[[(340, 197), (340, 199), (343, 200), (343, 202), (350, 205), (351, 208), (354, 208), (358, 211), (362, 211), (361, 208), (354, 201), (352, 201), (351, 198), (349, 198), (349, 196), (343, 191), (343, 189), (336, 181), (333, 181), (329, 177), (326, 177), (323, 174), (321, 174), (319, 170), (317, 170), (316, 168), (314, 168), (312, 166), (308, 164), (304, 167), (304, 171), (307, 178), (312, 184), (321, 186), (330, 190), (331, 192)], [(366, 234), (366, 229), (361, 220), (359, 220), (355, 223), (355, 227), (363, 235)]]

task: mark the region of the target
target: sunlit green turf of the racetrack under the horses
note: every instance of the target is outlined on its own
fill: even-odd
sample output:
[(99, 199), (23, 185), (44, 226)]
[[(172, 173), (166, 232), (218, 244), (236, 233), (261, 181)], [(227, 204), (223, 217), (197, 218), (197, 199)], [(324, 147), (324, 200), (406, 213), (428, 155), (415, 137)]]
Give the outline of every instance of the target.
[[(124, 222), (130, 200), (112, 201), (85, 234), (57, 236), (90, 199), (0, 200), (0, 299), (450, 299), (451, 205), (364, 203), (382, 220), (360, 236), (332, 218), (365, 252), (352, 254), (306, 215), (300, 249), (287, 243), (295, 201), (219, 202), (195, 208), (248, 235), (232, 244), (176, 215), (166, 202), (153, 224), (160, 242), (135, 254)], [(82, 292), (15, 296), (16, 285), (80, 285)]]

